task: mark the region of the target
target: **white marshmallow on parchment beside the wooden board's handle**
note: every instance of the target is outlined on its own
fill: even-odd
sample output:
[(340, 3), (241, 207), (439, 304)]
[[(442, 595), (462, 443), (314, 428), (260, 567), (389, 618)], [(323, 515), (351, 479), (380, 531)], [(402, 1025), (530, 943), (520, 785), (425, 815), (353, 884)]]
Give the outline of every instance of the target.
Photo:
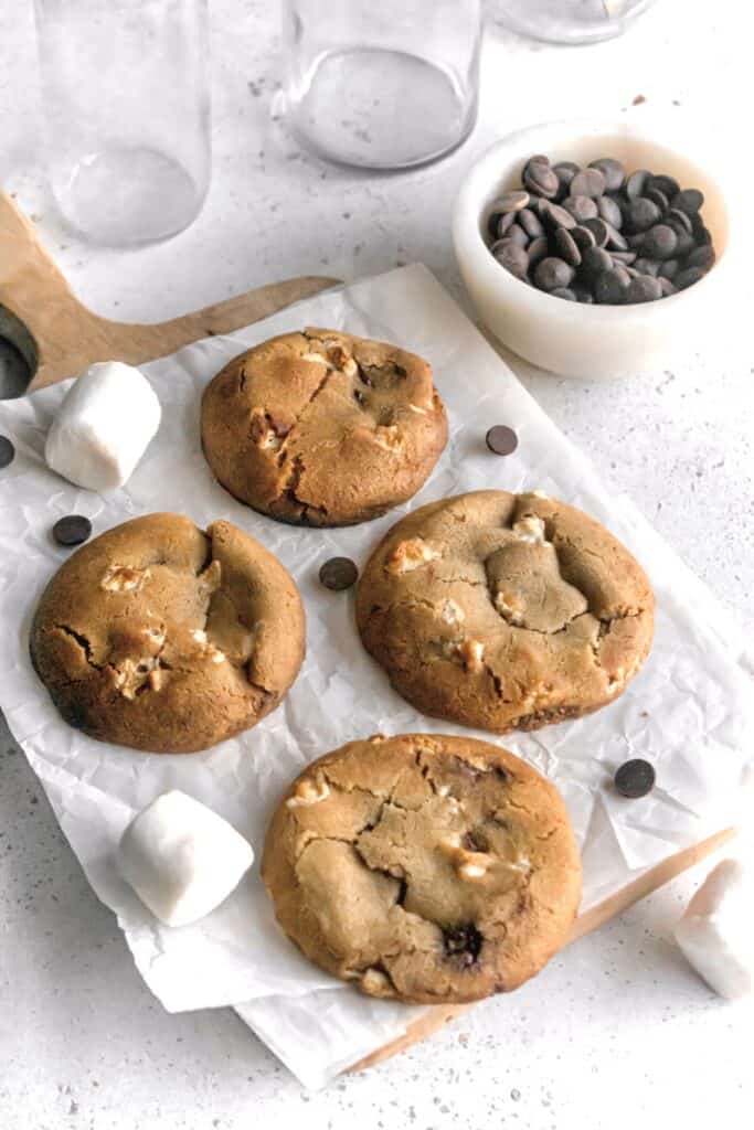
[(88, 490), (130, 478), (159, 427), (159, 401), (138, 368), (92, 365), (66, 394), (44, 449), (47, 466)]

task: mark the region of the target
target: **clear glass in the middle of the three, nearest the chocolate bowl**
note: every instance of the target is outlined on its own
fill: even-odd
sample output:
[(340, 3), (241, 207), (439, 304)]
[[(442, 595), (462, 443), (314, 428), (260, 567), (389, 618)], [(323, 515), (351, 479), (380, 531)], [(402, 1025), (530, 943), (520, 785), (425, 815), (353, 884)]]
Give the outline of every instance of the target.
[(288, 115), (364, 168), (434, 160), (476, 121), (480, 0), (284, 0)]

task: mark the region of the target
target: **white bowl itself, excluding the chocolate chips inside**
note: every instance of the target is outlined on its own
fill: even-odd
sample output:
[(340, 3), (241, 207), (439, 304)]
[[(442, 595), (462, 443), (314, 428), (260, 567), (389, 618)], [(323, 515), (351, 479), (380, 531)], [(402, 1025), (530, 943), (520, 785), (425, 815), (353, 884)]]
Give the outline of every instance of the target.
[[(704, 193), (702, 215), (717, 263), (701, 281), (652, 303), (598, 306), (553, 298), (521, 282), (489, 254), (489, 206), (521, 186), (532, 154), (553, 163), (588, 164), (616, 157), (631, 172), (649, 168)], [(482, 321), (519, 356), (553, 373), (601, 380), (669, 364), (702, 341), (728, 286), (729, 210), (718, 181), (657, 133), (627, 122), (554, 122), (511, 133), (494, 145), (463, 181), (453, 214), (453, 243), (466, 288)], [(683, 348), (682, 348), (683, 347)]]

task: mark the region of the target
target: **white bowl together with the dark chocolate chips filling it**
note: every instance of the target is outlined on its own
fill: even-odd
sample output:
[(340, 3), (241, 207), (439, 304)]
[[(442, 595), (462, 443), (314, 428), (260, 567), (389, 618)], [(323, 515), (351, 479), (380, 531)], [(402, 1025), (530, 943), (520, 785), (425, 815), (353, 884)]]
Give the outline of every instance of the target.
[(671, 142), (629, 123), (552, 123), (473, 167), (453, 242), (495, 337), (540, 368), (599, 380), (703, 344), (729, 226), (718, 181)]

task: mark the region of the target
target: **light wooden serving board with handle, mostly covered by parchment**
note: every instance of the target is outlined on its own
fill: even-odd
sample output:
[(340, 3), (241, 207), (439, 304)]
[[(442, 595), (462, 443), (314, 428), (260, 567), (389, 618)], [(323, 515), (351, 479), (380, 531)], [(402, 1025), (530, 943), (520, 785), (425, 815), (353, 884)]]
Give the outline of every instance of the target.
[[(97, 360), (124, 360), (138, 365), (166, 357), (201, 338), (251, 325), (338, 281), (305, 276), (249, 290), (170, 322), (153, 325), (113, 322), (94, 314), (78, 301), (42, 246), (32, 224), (7, 195), (0, 193), (0, 338), (6, 337), (16, 346), (33, 374), (28, 391), (75, 376)], [(643, 872), (580, 915), (567, 944), (598, 929), (694, 867), (735, 835), (735, 828), (726, 828)], [(361, 1071), (383, 1063), (398, 1052), (426, 1040), (471, 1007), (449, 1005), (428, 1009), (407, 1026), (402, 1036), (376, 1049), (348, 1070)]]

